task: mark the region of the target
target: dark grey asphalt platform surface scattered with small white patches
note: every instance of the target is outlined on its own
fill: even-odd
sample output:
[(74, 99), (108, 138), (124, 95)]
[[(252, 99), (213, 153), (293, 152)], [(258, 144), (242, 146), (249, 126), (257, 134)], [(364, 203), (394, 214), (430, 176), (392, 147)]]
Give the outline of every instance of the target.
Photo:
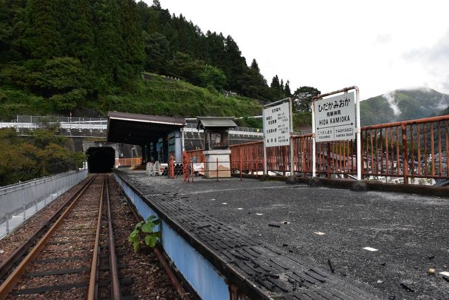
[(449, 198), (135, 176), (254, 238), (370, 285), (385, 299), (449, 299), (449, 278), (439, 274), (449, 272)]

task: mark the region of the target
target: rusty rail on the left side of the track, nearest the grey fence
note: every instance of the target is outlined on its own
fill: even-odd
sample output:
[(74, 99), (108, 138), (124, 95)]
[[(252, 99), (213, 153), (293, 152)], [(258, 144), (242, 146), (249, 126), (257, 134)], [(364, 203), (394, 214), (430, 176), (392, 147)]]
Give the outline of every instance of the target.
[[(90, 180), (90, 182), (93, 182), (93, 180)], [(90, 185), (90, 182), (88, 185)], [(35, 245), (34, 248), (28, 253), (28, 255), (21, 261), (21, 263), (15, 268), (15, 270), (8, 276), (8, 278), (3, 281), (3, 283), (0, 285), (0, 300), (6, 299), (8, 297), (8, 294), (11, 292), (11, 290), (15, 287), (17, 284), (17, 281), (19, 281), (20, 276), (25, 272), (26, 267), (28, 263), (30, 263), (33, 259), (36, 258), (36, 256), (39, 254), (40, 250), (46, 242), (51, 238), (52, 234), (55, 232), (57, 227), (61, 224), (62, 221), (68, 216), (70, 211), (77, 205), (79, 198), (82, 196), (84, 191), (86, 191), (88, 185), (84, 187), (82, 192), (79, 193), (79, 195), (73, 200), (73, 202), (67, 207), (67, 209), (64, 211), (61, 216), (57, 219), (57, 221), (48, 229), (48, 232), (41, 238), (41, 240)]]

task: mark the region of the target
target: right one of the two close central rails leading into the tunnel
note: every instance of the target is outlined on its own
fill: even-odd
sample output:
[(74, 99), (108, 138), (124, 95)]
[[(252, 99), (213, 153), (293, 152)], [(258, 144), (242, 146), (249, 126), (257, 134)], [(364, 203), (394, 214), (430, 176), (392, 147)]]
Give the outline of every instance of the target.
[(112, 225), (111, 201), (109, 199), (108, 177), (106, 176), (106, 206), (108, 207), (108, 245), (109, 245), (109, 270), (111, 274), (111, 299), (122, 299), (120, 290), (119, 271), (117, 264), (117, 254), (115, 254), (115, 238)]

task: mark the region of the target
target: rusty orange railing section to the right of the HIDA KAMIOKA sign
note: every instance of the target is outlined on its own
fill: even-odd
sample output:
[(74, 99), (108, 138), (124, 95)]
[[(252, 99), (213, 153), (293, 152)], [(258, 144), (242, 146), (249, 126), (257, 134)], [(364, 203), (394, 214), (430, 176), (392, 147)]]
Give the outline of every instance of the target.
[(449, 115), (362, 128), (363, 175), (449, 178)]

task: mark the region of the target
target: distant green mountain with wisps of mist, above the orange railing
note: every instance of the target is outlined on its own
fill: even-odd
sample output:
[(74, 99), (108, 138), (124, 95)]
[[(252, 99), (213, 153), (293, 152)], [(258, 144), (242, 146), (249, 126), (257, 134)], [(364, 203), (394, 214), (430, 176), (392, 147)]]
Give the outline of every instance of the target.
[(360, 109), (362, 126), (447, 115), (449, 95), (432, 88), (399, 89), (362, 101)]

